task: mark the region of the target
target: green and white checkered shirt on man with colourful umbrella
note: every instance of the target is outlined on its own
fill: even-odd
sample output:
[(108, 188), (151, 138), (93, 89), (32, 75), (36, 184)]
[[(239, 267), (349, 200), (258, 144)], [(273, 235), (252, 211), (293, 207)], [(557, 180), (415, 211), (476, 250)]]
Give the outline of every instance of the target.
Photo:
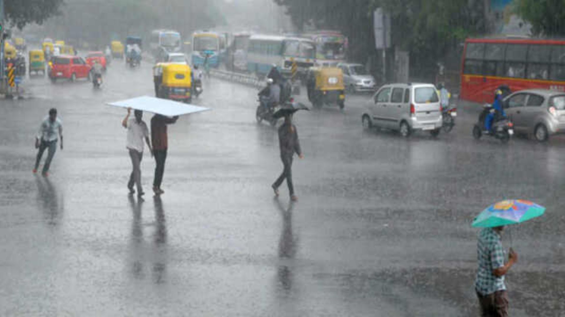
[(504, 266), (505, 252), (502, 249), (500, 235), (492, 228), (483, 228), (477, 242), (477, 261), (479, 269), (475, 279), (475, 288), (482, 295), (505, 290), (504, 276), (497, 278), (493, 270)]

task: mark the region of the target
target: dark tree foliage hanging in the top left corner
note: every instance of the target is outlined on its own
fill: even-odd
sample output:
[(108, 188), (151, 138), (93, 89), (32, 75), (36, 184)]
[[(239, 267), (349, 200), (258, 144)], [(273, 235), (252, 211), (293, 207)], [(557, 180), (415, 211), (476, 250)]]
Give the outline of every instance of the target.
[(5, 17), (10, 24), (23, 29), (26, 24), (43, 24), (59, 13), (63, 0), (4, 0)]

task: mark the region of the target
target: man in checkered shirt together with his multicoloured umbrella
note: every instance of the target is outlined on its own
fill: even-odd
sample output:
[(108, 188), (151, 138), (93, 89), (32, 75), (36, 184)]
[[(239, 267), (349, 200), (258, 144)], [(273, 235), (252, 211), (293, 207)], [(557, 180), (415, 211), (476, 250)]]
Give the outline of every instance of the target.
[(504, 278), (518, 254), (510, 248), (508, 262), (502, 248), (502, 232), (509, 224), (521, 223), (544, 214), (545, 208), (527, 200), (504, 200), (486, 208), (473, 221), (473, 227), (481, 227), (477, 243), (479, 268), (475, 290), (479, 297), (481, 316), (506, 317), (508, 297)]

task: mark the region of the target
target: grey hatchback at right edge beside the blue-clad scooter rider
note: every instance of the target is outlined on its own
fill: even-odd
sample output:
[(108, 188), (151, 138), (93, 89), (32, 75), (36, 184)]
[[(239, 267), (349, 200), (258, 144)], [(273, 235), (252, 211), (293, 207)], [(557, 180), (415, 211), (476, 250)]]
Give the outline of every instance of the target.
[(521, 90), (503, 101), (516, 133), (545, 142), (550, 135), (565, 133), (565, 93), (545, 89)]

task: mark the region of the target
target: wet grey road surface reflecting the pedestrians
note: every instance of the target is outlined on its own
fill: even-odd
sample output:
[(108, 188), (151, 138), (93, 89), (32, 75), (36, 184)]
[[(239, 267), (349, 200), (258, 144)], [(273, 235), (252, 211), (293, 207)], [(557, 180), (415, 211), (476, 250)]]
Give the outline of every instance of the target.
[[(151, 67), (110, 66), (105, 86), (45, 78), (0, 102), (2, 316), (475, 316), (476, 230), (505, 198), (547, 207), (511, 228), (512, 316), (565, 316), (565, 139), (471, 137), (475, 113), (433, 139), (363, 131), (368, 96), (295, 116), (305, 153), (299, 201), (272, 197), (276, 131), (255, 122), (256, 90), (205, 82), (212, 111), (169, 126), (161, 199), (127, 195), (123, 109), (152, 95)], [(59, 109), (65, 148), (31, 173), (34, 134)], [(150, 115), (145, 114), (149, 123)]]

